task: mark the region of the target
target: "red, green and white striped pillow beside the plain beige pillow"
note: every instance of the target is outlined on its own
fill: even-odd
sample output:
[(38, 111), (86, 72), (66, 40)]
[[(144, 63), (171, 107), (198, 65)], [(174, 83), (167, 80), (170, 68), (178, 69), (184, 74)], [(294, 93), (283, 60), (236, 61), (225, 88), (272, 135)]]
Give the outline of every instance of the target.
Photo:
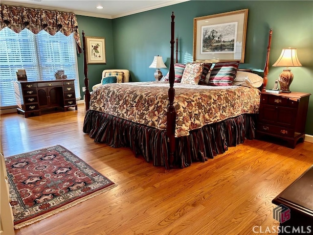
[(218, 62), (213, 67), (209, 86), (232, 86), (240, 61)]

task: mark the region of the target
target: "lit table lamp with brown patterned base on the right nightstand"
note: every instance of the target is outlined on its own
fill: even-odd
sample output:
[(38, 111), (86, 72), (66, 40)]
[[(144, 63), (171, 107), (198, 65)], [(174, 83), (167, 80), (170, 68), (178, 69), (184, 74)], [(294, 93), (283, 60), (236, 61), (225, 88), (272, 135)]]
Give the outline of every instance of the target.
[(280, 54), (278, 60), (273, 64), (274, 67), (287, 67), (278, 76), (278, 81), (280, 84), (280, 90), (282, 92), (290, 93), (290, 84), (293, 80), (293, 74), (291, 69), (288, 67), (299, 67), (302, 66), (298, 60), (297, 49), (296, 48), (284, 48)]

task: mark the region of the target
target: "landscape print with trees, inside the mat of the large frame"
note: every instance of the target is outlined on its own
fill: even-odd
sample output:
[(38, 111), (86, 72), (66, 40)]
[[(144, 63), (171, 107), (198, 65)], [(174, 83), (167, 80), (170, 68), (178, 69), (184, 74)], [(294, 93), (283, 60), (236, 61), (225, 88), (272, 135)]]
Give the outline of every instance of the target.
[(234, 53), (238, 22), (201, 26), (201, 54)]

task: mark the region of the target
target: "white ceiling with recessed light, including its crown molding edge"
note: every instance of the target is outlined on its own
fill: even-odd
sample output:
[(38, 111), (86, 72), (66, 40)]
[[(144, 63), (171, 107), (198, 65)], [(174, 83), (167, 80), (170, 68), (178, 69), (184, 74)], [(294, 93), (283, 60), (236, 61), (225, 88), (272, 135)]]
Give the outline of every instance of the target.
[[(184, 1), (188, 0), (1, 0), (1, 3), (114, 19)], [(97, 9), (99, 5), (103, 9)]]

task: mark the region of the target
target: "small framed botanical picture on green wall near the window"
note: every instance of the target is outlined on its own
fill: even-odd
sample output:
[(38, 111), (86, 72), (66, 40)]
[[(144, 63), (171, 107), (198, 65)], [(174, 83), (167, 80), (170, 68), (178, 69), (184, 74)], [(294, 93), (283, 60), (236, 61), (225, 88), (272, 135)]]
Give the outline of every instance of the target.
[(106, 64), (105, 39), (85, 37), (87, 64)]

